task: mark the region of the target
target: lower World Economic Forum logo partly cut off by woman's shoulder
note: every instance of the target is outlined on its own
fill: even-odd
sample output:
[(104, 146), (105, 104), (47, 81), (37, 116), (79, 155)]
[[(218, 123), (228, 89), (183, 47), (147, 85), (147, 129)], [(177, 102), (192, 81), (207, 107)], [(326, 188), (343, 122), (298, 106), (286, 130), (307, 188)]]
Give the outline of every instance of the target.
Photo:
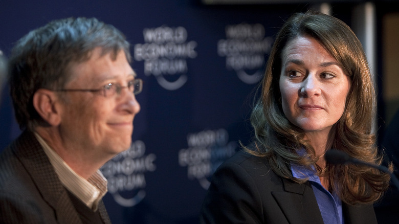
[(187, 145), (188, 148), (179, 151), (179, 165), (187, 167), (187, 177), (198, 180), (205, 190), (216, 168), (237, 148), (235, 141), (229, 142), (229, 133), (223, 128), (189, 133)]

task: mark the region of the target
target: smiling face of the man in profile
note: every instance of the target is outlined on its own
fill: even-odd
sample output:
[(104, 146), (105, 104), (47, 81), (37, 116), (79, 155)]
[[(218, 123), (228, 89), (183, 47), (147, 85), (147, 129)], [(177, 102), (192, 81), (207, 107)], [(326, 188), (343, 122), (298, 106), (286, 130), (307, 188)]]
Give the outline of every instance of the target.
[[(101, 89), (108, 83), (127, 86), (135, 79), (123, 51), (113, 60), (111, 54), (101, 56), (100, 48), (92, 52), (90, 60), (72, 65), (70, 72), (72, 78), (65, 89)], [(59, 130), (66, 150), (101, 159), (130, 147), (133, 119), (140, 105), (128, 88), (113, 96), (104, 96), (103, 91), (62, 94)]]

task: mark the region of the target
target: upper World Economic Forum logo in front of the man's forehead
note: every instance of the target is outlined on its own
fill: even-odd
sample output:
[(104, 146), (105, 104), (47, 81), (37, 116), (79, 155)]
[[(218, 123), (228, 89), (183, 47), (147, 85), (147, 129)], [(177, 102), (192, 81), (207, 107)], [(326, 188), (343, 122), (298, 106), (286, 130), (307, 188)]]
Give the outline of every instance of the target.
[(167, 90), (181, 88), (187, 81), (187, 59), (197, 56), (197, 42), (187, 41), (184, 27), (145, 28), (143, 36), (145, 43), (135, 45), (134, 58), (144, 61), (144, 74)]

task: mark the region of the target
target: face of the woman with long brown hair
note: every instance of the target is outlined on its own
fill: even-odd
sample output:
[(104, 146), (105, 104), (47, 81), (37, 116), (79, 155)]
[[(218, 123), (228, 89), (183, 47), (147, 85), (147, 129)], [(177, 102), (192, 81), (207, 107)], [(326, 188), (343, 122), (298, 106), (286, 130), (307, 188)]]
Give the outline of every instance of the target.
[(341, 118), (350, 79), (313, 37), (299, 36), (282, 51), (281, 103), (285, 116), (306, 133), (328, 135)]

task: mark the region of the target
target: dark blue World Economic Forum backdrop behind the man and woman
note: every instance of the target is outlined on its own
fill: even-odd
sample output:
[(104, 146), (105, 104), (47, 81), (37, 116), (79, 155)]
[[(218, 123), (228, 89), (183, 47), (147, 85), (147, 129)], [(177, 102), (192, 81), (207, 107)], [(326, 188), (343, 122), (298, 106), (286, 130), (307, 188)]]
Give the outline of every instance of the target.
[[(131, 43), (144, 79), (132, 147), (107, 163), (114, 223), (196, 223), (214, 169), (250, 139), (253, 91), (283, 19), (306, 6), (206, 6), (200, 1), (3, 1), (0, 49), (52, 19), (97, 17)], [(20, 131), (8, 89), (4, 148)]]

